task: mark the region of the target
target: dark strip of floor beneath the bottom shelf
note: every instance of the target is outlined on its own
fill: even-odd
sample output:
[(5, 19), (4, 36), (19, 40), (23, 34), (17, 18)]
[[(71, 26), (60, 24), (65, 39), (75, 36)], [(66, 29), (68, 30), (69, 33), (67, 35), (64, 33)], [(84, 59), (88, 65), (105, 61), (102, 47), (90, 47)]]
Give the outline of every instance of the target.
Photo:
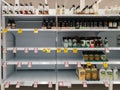
[[(40, 85), (38, 88), (32, 88), (32, 87), (20, 87), (19, 89), (16, 89), (15, 86), (10, 86), (9, 89), (5, 90), (54, 90), (53, 88), (48, 88), (47, 85)], [(88, 85), (87, 88), (83, 88), (82, 85), (73, 85), (72, 88), (59, 88), (59, 90), (108, 90), (104, 85)], [(114, 85), (113, 90), (120, 90), (120, 85)]]

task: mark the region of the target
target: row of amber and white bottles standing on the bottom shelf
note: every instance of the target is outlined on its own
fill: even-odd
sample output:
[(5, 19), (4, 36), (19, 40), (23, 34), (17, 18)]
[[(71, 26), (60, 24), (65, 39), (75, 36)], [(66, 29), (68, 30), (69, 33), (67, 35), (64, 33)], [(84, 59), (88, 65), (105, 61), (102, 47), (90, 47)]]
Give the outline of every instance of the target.
[(92, 66), (81, 66), (76, 69), (79, 80), (84, 81), (95, 81), (95, 80), (118, 80), (118, 69), (115, 67), (111, 69), (110, 67), (98, 69), (96, 65)]

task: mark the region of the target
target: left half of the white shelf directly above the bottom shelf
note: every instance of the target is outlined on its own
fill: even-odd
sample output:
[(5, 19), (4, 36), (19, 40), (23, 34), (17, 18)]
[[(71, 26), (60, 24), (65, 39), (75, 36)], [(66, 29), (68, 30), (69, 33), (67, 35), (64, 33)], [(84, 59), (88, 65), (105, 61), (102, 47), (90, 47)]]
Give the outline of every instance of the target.
[(10, 59), (7, 60), (8, 65), (18, 64), (22, 62), (22, 65), (28, 65), (28, 62), (32, 62), (34, 65), (46, 65), (46, 64), (56, 64), (56, 60), (53, 59)]

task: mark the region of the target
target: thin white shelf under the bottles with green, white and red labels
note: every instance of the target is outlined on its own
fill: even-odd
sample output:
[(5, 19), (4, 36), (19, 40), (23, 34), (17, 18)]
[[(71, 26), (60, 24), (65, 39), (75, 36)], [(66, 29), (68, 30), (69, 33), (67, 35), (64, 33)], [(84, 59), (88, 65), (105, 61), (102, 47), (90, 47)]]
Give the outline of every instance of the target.
[[(43, 50), (44, 48), (50, 49), (50, 50), (57, 50), (57, 48), (60, 48), (61, 50), (64, 50), (65, 48), (63, 47), (7, 47), (7, 50), (13, 50), (14, 48), (17, 48), (17, 50), (24, 50), (25, 48), (29, 48), (29, 50), (34, 50), (37, 48), (38, 50)], [(68, 50), (73, 50), (74, 48), (67, 48)], [(109, 50), (120, 50), (120, 47), (108, 47), (107, 49)], [(105, 50), (104, 47), (101, 48), (77, 48), (77, 50), (100, 50), (103, 51)]]

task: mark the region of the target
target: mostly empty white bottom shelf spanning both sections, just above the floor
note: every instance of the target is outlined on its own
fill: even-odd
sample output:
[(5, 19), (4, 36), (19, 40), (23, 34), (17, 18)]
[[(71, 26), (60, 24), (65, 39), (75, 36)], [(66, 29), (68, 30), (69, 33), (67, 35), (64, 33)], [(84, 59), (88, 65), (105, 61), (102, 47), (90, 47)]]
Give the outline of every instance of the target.
[[(120, 73), (119, 73), (120, 74)], [(120, 75), (119, 75), (120, 76)], [(16, 85), (17, 82), (21, 86), (32, 86), (34, 82), (38, 84), (56, 84), (57, 82), (69, 83), (69, 84), (83, 84), (77, 77), (75, 70), (61, 70), (61, 71), (16, 71), (11, 74), (6, 80), (10, 82), (10, 85)], [(103, 81), (85, 81), (87, 84), (104, 84)], [(113, 84), (120, 84), (120, 78), (118, 81), (112, 81)]]

